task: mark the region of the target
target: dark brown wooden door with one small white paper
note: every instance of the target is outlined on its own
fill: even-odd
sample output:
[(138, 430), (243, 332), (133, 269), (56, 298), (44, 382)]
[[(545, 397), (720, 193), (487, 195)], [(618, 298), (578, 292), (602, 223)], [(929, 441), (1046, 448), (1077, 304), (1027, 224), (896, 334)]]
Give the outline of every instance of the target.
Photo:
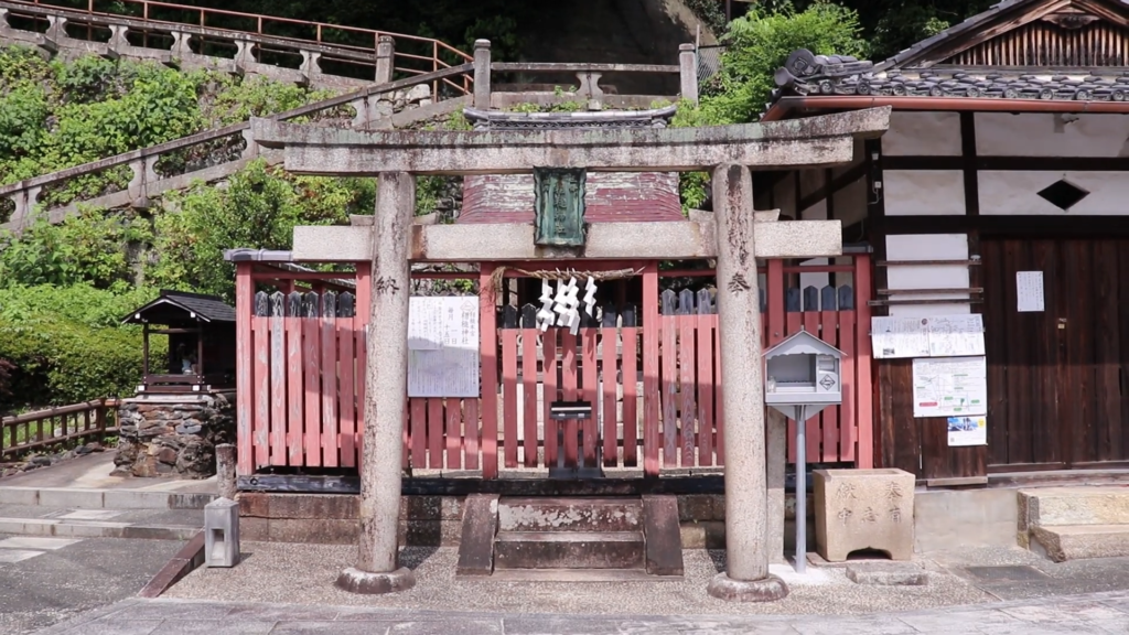
[[(982, 242), (990, 471), (1129, 460), (1129, 241)], [(1019, 312), (1016, 272), (1043, 273)]]

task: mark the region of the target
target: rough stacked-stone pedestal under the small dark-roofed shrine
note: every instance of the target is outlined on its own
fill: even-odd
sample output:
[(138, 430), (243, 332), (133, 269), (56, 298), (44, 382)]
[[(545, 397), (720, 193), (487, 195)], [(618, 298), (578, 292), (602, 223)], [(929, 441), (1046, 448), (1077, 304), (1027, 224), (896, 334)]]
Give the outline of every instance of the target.
[(209, 478), (216, 446), (235, 443), (235, 393), (148, 394), (126, 399), (114, 475)]

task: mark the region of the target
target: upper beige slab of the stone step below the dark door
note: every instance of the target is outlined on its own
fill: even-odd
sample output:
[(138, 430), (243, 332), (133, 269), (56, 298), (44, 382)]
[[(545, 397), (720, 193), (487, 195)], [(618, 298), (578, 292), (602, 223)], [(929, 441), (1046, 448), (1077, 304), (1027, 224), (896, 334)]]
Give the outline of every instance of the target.
[(1129, 485), (1019, 490), (1021, 531), (1087, 524), (1129, 524)]

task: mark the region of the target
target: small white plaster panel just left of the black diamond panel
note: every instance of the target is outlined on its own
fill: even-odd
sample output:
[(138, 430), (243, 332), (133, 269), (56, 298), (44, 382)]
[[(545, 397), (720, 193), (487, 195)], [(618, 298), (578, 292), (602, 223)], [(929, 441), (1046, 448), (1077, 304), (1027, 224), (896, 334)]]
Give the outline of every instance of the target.
[(959, 169), (887, 169), (886, 216), (961, 216), (964, 174)]

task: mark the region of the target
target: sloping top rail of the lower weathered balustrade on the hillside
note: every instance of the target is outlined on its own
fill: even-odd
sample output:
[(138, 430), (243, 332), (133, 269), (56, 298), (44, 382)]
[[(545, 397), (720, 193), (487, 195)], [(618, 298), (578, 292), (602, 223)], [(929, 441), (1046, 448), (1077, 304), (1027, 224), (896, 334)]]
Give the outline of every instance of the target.
[[(321, 111), (326, 111), (338, 106), (342, 106), (355, 102), (357, 99), (362, 99), (373, 95), (380, 95), (384, 93), (394, 93), (403, 88), (410, 88), (412, 86), (429, 84), (431, 81), (446, 79), (448, 77), (454, 77), (457, 75), (464, 75), (471, 72), (474, 66), (470, 63), (460, 64), (457, 67), (445, 68), (435, 72), (428, 72), (423, 75), (418, 75), (415, 77), (409, 77), (405, 79), (399, 79), (396, 81), (391, 81), (388, 84), (379, 84), (376, 86), (369, 86), (361, 88), (360, 90), (355, 90), (345, 95), (340, 95), (338, 97), (331, 97), (329, 99), (323, 99), (321, 102), (315, 102), (313, 104), (306, 104), (304, 106), (298, 106), (266, 119), (277, 119), (279, 121), (286, 121), (289, 119), (296, 119), (299, 116), (306, 116)], [(135, 160), (145, 159), (148, 157), (160, 156), (169, 151), (180, 150), (190, 146), (195, 146), (207, 141), (213, 141), (216, 139), (222, 139), (224, 137), (230, 137), (248, 130), (251, 128), (250, 122), (233, 123), (230, 125), (225, 125), (222, 128), (215, 128), (212, 130), (205, 130), (203, 132), (198, 132), (195, 134), (190, 134), (187, 137), (182, 137), (180, 139), (174, 139), (172, 141), (166, 141), (164, 143), (158, 143), (156, 146), (150, 146), (148, 148), (141, 148), (139, 150), (131, 150), (121, 155), (115, 155), (96, 162), (77, 165), (75, 167), (68, 167), (67, 169), (60, 169), (59, 172), (52, 172), (51, 174), (44, 174), (42, 176), (34, 176), (32, 179), (25, 179), (24, 181), (17, 181), (9, 185), (0, 188), (0, 195), (8, 195), (21, 190), (27, 190), (30, 188), (37, 188), (43, 185), (50, 185), (52, 183), (58, 183), (60, 181), (65, 181), (67, 179), (73, 179), (76, 176), (82, 176), (85, 174), (91, 174), (95, 172), (102, 172), (104, 169), (116, 167), (120, 165), (128, 165)]]

